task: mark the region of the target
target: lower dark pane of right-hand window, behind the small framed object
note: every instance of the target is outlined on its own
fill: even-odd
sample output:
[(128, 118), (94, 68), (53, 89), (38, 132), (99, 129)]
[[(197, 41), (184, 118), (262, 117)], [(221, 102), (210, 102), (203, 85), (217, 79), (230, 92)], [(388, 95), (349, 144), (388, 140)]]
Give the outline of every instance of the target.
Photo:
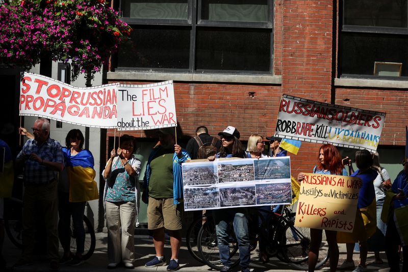
[(342, 74), (373, 75), (374, 62), (402, 63), (401, 76), (408, 76), (408, 37), (343, 32)]

